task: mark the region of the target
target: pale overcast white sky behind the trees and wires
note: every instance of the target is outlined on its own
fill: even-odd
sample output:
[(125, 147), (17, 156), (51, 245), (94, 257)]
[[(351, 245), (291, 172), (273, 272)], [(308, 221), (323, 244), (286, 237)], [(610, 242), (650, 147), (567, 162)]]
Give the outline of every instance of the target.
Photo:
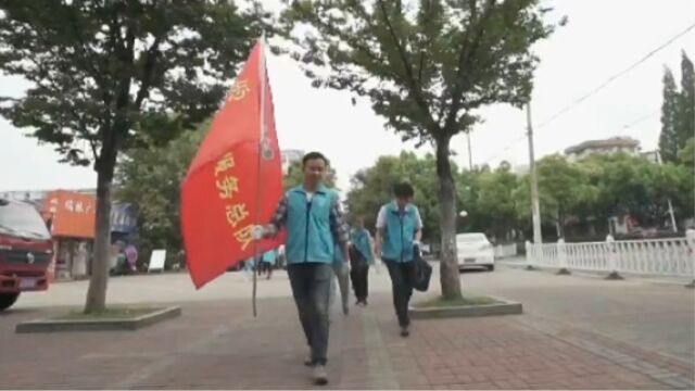
[[(695, 29), (679, 38), (601, 92), (541, 126), (610, 76), (695, 23), (694, 0), (555, 0), (549, 16), (560, 27), (533, 50), (535, 73), (532, 117), (538, 157), (589, 139), (629, 136), (644, 151), (654, 150), (660, 131), (661, 77), (669, 66), (680, 81), (681, 50), (695, 60)], [(324, 152), (338, 172), (338, 186), (380, 155), (415, 150), (383, 125), (367, 100), (351, 102), (349, 92), (314, 89), (289, 58), (267, 59), (281, 149)], [(0, 94), (22, 96), (26, 83), (0, 75)], [(496, 166), (506, 160), (528, 164), (526, 113), (508, 105), (480, 111), (484, 119), (471, 134), (473, 164)], [(631, 126), (630, 126), (631, 125)], [(466, 138), (453, 140), (455, 160), (468, 165)], [(425, 146), (418, 153), (432, 152)], [(58, 163), (51, 146), (38, 144), (0, 118), (0, 191), (96, 187), (91, 168)]]

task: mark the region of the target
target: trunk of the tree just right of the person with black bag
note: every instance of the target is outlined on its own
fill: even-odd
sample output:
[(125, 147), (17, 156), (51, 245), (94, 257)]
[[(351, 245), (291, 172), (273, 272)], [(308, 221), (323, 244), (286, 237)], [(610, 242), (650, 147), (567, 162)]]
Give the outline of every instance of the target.
[(442, 232), (442, 258), (440, 281), (442, 295), (448, 300), (462, 298), (458, 260), (456, 258), (456, 187), (448, 156), (451, 137), (437, 140), (437, 176), (439, 178), (440, 230)]

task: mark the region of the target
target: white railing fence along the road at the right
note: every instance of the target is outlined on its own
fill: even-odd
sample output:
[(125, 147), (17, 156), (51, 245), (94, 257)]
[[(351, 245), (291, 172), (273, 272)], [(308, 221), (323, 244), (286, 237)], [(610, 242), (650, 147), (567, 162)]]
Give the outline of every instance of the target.
[(569, 270), (695, 278), (695, 230), (685, 238), (532, 244), (529, 265)]

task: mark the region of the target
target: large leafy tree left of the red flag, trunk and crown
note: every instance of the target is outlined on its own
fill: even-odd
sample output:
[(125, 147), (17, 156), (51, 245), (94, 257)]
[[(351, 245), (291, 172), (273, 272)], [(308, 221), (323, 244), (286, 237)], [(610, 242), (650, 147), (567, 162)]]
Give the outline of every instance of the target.
[(144, 122), (179, 113), (186, 128), (206, 118), (267, 27), (264, 16), (227, 1), (0, 0), (0, 71), (33, 84), (23, 98), (2, 98), (0, 114), (54, 143), (64, 162), (93, 161), (97, 172), (86, 313), (105, 308), (118, 152), (138, 141)]

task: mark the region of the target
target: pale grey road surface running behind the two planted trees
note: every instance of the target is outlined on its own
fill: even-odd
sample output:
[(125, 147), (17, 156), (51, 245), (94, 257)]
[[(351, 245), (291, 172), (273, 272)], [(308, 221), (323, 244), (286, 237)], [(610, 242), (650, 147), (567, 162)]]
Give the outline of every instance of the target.
[[(431, 287), (439, 292), (438, 267), (434, 273)], [(498, 267), (494, 273), (467, 270), (462, 274), (462, 281), (465, 291), (521, 302), (527, 314), (695, 361), (695, 292), (682, 285), (635, 279), (604, 281), (511, 267)], [(15, 307), (79, 306), (87, 285), (88, 281), (55, 283), (47, 292), (22, 295)], [(391, 291), (386, 269), (371, 272), (370, 291)], [(277, 272), (269, 281), (258, 278), (257, 297), (290, 297), (287, 275)], [(112, 278), (109, 286), (112, 304), (216, 300), (247, 300), (251, 308), (251, 276), (244, 272), (227, 273), (200, 291), (184, 273)]]

